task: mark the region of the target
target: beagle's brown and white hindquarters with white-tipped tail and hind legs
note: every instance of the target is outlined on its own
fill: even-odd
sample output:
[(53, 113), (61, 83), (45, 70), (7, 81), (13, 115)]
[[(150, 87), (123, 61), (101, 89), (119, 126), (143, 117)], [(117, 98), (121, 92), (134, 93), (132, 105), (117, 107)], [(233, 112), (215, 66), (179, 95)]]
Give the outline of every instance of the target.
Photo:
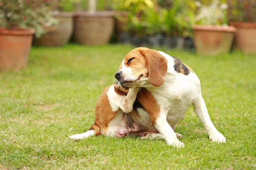
[[(135, 101), (135, 99), (137, 100)], [(146, 100), (148, 102), (144, 104), (143, 101)], [(159, 107), (157, 101), (145, 88), (135, 87), (124, 90), (118, 84), (108, 86), (96, 103), (94, 125), (87, 132), (70, 136), (70, 138), (81, 140), (101, 134), (114, 137), (136, 135), (142, 136), (143, 139), (161, 138), (150, 119), (150, 115), (140, 102), (146, 107), (150, 105), (152, 113), (155, 107)], [(175, 134), (179, 138), (182, 137), (179, 133)]]

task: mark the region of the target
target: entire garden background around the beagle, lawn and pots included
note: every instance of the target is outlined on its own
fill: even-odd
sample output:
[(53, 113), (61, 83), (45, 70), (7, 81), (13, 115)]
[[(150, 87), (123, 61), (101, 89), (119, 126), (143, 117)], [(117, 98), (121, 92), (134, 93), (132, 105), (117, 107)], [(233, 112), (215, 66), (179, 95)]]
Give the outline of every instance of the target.
[[(175, 127), (183, 150), (70, 142), (138, 46), (195, 71), (226, 144), (209, 142), (192, 107)], [(256, 0), (0, 0), (0, 170), (256, 169), (255, 68)]]

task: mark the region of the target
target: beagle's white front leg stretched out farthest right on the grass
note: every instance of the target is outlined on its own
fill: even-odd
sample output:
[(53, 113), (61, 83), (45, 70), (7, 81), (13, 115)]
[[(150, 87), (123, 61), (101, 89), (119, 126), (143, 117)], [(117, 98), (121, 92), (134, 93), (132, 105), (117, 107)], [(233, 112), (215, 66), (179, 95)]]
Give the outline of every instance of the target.
[(204, 127), (209, 134), (209, 139), (212, 142), (226, 142), (226, 138), (213, 125), (202, 96), (195, 100), (193, 107), (195, 113), (204, 124)]

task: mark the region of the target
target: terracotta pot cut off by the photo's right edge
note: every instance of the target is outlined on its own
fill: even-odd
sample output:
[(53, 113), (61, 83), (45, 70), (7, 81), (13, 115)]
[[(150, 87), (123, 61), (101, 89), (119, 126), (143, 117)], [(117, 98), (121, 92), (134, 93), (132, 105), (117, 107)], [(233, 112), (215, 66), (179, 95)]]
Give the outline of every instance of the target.
[(236, 27), (235, 48), (247, 54), (256, 54), (256, 23), (231, 23)]

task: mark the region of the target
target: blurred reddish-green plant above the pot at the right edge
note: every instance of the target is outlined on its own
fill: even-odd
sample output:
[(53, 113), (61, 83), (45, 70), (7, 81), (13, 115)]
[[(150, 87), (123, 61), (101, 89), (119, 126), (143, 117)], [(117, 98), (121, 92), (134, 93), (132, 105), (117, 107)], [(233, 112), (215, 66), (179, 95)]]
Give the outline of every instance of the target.
[(256, 22), (256, 0), (230, 0), (230, 21)]

